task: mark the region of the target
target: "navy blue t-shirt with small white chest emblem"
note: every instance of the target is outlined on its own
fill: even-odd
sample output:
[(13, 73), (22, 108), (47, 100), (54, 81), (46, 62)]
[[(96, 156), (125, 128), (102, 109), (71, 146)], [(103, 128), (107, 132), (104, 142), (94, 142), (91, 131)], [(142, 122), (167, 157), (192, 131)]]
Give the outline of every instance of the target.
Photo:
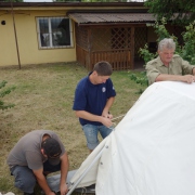
[[(109, 98), (115, 96), (115, 88), (108, 78), (105, 83), (93, 84), (89, 76), (82, 78), (75, 91), (74, 110), (86, 110), (94, 115), (102, 115), (102, 112)], [(79, 118), (82, 126), (87, 123), (102, 126), (101, 122)]]

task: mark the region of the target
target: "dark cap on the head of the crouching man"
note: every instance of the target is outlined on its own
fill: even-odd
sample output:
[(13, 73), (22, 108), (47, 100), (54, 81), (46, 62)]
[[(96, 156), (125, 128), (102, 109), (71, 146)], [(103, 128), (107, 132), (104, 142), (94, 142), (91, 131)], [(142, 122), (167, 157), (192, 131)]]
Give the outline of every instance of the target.
[(55, 166), (60, 164), (62, 150), (60, 143), (55, 139), (46, 139), (42, 142), (41, 147), (44, 150), (44, 154), (48, 156), (48, 160), (51, 165)]

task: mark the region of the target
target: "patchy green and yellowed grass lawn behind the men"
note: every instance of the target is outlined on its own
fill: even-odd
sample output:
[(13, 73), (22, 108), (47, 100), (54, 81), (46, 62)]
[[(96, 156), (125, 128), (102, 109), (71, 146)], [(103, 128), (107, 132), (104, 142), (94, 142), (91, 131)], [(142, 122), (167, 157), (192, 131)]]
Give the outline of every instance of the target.
[[(3, 101), (15, 107), (0, 110), (0, 192), (22, 193), (13, 186), (13, 177), (6, 166), (6, 156), (21, 136), (31, 130), (49, 129), (62, 139), (69, 158), (69, 170), (77, 169), (89, 155), (78, 118), (72, 109), (77, 82), (88, 70), (77, 63), (0, 67), (0, 81), (15, 91)], [(139, 99), (139, 84), (129, 73), (112, 75), (117, 96), (110, 109), (114, 117), (125, 115)], [(115, 121), (115, 125), (121, 118)]]

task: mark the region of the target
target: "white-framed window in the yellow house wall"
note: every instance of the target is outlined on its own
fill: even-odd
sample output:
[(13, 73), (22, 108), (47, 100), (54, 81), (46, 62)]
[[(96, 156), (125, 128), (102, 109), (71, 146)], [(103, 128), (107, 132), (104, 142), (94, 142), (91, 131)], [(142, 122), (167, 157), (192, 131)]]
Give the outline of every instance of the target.
[(73, 47), (73, 28), (68, 17), (37, 17), (39, 48)]

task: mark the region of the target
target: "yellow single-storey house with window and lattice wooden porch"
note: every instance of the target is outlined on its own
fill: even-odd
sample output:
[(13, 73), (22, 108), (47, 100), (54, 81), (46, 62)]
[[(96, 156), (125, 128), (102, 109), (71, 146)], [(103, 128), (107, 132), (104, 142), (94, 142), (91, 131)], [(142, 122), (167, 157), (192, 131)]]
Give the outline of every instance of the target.
[[(143, 2), (0, 2), (0, 66), (108, 61), (134, 69), (156, 35)], [(142, 63), (143, 65), (143, 63)]]

